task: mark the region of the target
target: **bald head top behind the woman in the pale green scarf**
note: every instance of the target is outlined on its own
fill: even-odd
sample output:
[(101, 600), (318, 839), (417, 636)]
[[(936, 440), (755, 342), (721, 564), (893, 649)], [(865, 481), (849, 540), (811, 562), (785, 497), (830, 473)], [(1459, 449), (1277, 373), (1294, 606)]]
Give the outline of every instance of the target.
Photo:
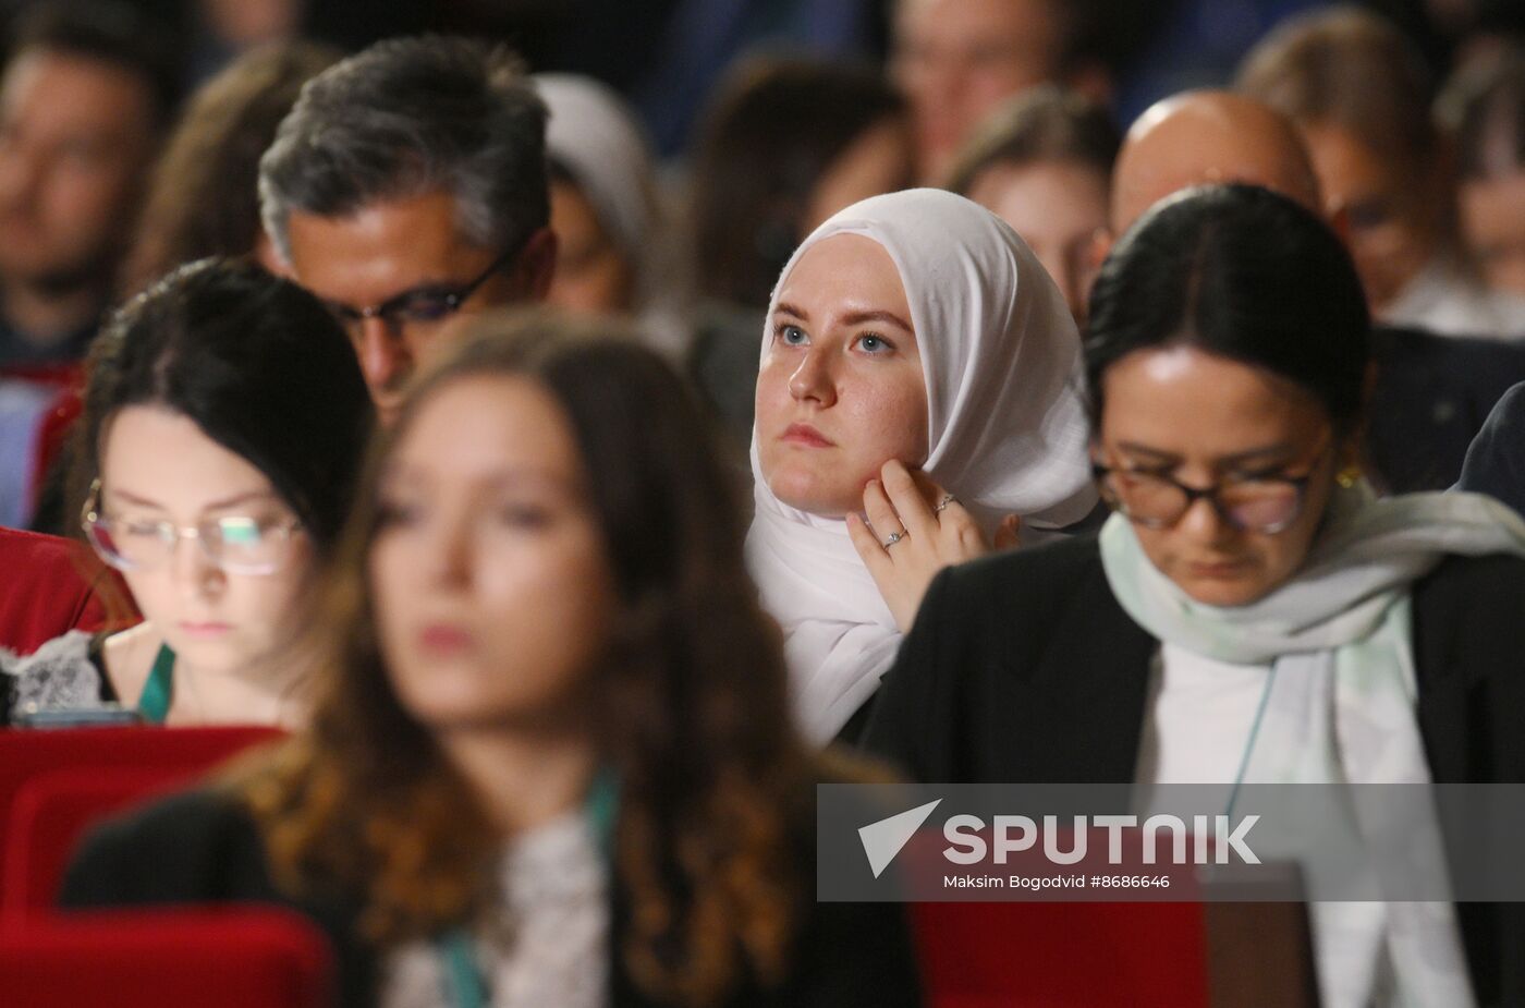
[(1185, 91), (1151, 105), (1122, 140), (1112, 175), (1112, 233), (1190, 186), (1247, 181), (1322, 215), (1319, 180), (1290, 119), (1231, 91)]

